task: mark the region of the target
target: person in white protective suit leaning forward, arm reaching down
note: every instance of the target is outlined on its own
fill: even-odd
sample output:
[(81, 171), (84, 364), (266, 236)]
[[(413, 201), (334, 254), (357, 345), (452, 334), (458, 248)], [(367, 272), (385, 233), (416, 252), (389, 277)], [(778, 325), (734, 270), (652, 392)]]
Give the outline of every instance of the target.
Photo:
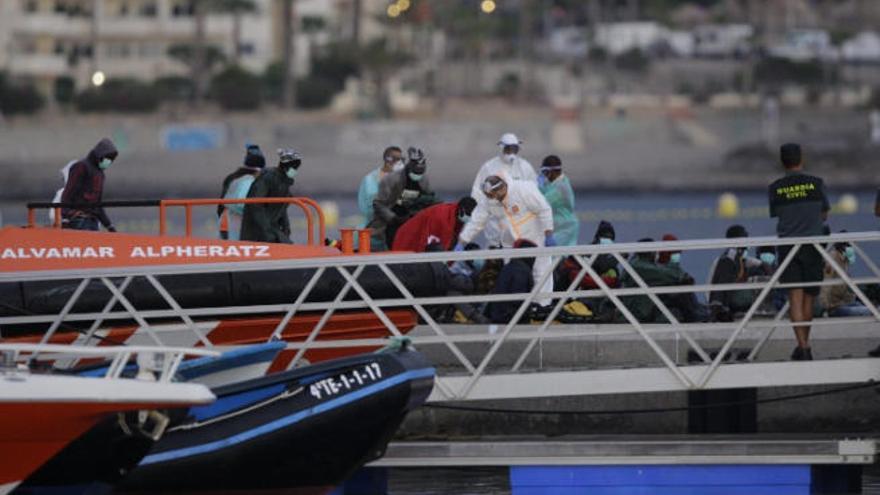
[[(483, 181), (480, 196), (484, 201), (477, 203), (471, 213), (471, 221), (466, 223), (459, 235), (456, 251), (473, 242), (474, 238), (486, 228), (490, 221), (501, 226), (500, 243), (504, 248), (512, 248), (514, 242), (526, 239), (535, 245), (553, 247), (553, 210), (531, 181), (505, 181), (497, 175), (490, 175)], [(532, 268), (535, 284), (540, 283), (544, 274), (550, 272), (553, 262), (550, 256), (538, 256)], [(542, 292), (553, 292), (553, 275), (541, 286)], [(540, 306), (550, 304), (550, 298), (535, 301)]]

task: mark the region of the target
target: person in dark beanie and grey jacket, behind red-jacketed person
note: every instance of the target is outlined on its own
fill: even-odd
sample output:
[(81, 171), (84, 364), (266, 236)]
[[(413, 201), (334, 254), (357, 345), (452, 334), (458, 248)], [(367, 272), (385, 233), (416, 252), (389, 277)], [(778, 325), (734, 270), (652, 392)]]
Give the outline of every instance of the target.
[(372, 229), (371, 246), (377, 251), (393, 246), (397, 229), (435, 203), (424, 152), (409, 148), (406, 153), (406, 165), (382, 178), (379, 192), (373, 199), (373, 220), (369, 227)]

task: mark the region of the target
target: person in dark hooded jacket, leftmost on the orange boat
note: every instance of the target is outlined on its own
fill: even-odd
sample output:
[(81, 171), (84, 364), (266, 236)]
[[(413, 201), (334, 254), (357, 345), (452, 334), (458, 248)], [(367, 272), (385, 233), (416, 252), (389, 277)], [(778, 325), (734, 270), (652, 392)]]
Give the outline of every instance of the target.
[[(61, 193), (62, 203), (100, 203), (104, 196), (104, 172), (110, 168), (119, 151), (108, 138), (98, 141), (82, 160), (70, 166), (67, 182)], [(110, 232), (116, 232), (104, 208), (62, 208), (62, 226), (76, 230), (99, 230), (98, 222)]]

